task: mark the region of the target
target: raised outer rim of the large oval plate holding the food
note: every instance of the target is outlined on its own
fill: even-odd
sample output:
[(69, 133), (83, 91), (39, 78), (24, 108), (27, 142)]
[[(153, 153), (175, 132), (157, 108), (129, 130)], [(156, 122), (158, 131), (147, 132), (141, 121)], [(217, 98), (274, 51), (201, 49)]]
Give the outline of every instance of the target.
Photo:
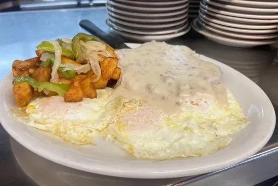
[[(32, 144), (24, 143), (22, 141), (23, 140), (22, 136), (16, 134), (16, 132), (11, 129), (11, 125), (9, 125), (10, 122), (13, 122), (13, 120), (10, 119), (10, 121), (3, 121), (4, 120), (3, 118), (7, 118), (7, 117), (9, 118), (9, 116), (5, 115), (5, 114), (7, 114), (8, 111), (6, 111), (6, 113), (0, 112), (0, 122), (2, 123), (5, 130), (17, 142), (19, 142), (21, 145), (23, 145), (25, 148), (29, 149), (30, 151), (34, 152), (35, 154), (37, 154), (37, 155), (39, 155), (39, 156), (41, 156), (45, 159), (56, 162), (58, 164), (62, 164), (62, 165), (67, 166), (67, 167), (71, 167), (71, 168), (75, 168), (75, 169), (83, 170), (83, 171), (87, 171), (87, 172), (94, 172), (94, 173), (99, 173), (99, 174), (104, 174), (104, 175), (111, 175), (111, 176), (118, 176), (118, 177), (130, 177), (130, 178), (167, 178), (167, 177), (169, 178), (169, 177), (181, 177), (181, 176), (187, 176), (187, 175), (196, 175), (196, 174), (201, 174), (201, 173), (210, 172), (210, 171), (214, 171), (214, 170), (219, 170), (219, 169), (234, 165), (236, 163), (239, 163), (239, 162), (249, 158), (250, 156), (254, 155), (261, 148), (263, 148), (264, 145), (268, 142), (269, 138), (271, 137), (271, 135), (274, 131), (276, 117), (275, 117), (274, 108), (273, 108), (269, 98), (267, 97), (265, 92), (256, 83), (251, 81), (249, 78), (247, 78), (242, 73), (238, 72), (237, 70), (235, 70), (235, 69), (233, 69), (233, 68), (231, 68), (231, 67), (229, 67), (229, 66), (227, 66), (227, 65), (225, 65), (221, 62), (218, 62), (216, 60), (213, 60), (213, 59), (208, 58), (208, 57), (203, 56), (203, 55), (199, 55), (199, 57), (200, 57), (200, 59), (215, 63), (215, 64), (219, 65), (220, 67), (227, 68), (228, 70), (233, 71), (234, 73), (236, 73), (236, 75), (239, 75), (240, 77), (244, 77), (248, 81), (248, 84), (250, 86), (255, 86), (256, 89), (259, 91), (259, 94), (261, 96), (263, 96), (263, 99), (266, 101), (265, 106), (269, 109), (269, 112), (267, 112), (267, 113), (269, 114), (269, 116), (271, 116), (271, 118), (269, 118), (270, 123), (269, 123), (269, 127), (268, 127), (268, 130), (267, 130), (268, 133), (263, 136), (263, 138), (259, 141), (258, 144), (256, 144), (256, 147), (252, 148), (250, 151), (246, 151), (245, 153), (240, 153), (239, 156), (234, 157), (233, 159), (228, 159), (228, 160), (225, 160), (224, 162), (219, 162), (217, 165), (205, 166), (205, 167), (202, 167), (201, 170), (195, 168), (195, 169), (190, 170), (191, 173), (189, 173), (189, 170), (184, 169), (184, 166), (180, 166), (178, 170), (176, 170), (176, 168), (175, 168), (173, 170), (171, 169), (170, 171), (168, 170), (169, 166), (167, 166), (167, 171), (160, 170), (160, 171), (156, 171), (156, 172), (152, 172), (152, 173), (149, 172), (150, 170), (146, 171), (146, 172), (142, 172), (143, 170), (145, 170), (144, 166), (143, 167), (142, 166), (138, 167), (138, 168), (136, 168), (136, 170), (129, 168), (128, 169), (129, 171), (119, 171), (119, 170), (117, 170), (117, 167), (115, 169), (113, 169), (112, 168), (113, 166), (111, 166), (111, 165), (110, 165), (110, 167), (105, 167), (105, 165), (100, 164), (101, 162), (95, 162), (95, 163), (97, 165), (104, 166), (105, 167), (104, 169), (97, 167), (97, 165), (94, 166), (94, 167), (80, 166), (79, 164), (68, 162), (66, 157), (63, 157), (61, 160), (58, 160), (56, 157), (54, 157), (52, 154), (50, 154), (44, 148), (42, 148), (41, 150), (38, 150), (35, 146), (32, 146)], [(11, 78), (12, 78), (11, 73), (6, 75), (3, 78), (3, 80), (0, 82), (0, 87), (3, 86), (5, 80), (7, 80), (9, 78), (9, 76), (11, 76)], [(7, 90), (5, 92), (7, 92)], [(2, 94), (4, 94), (5, 92), (1, 91)], [(3, 103), (5, 105), (5, 101), (3, 99), (0, 99), (0, 103)], [(4, 110), (4, 108), (2, 108), (1, 110)], [(31, 141), (31, 142), (34, 143), (34, 144), (37, 144), (36, 142), (33, 142), (33, 141)], [(57, 156), (57, 155), (55, 154), (55, 156)], [(182, 162), (184, 160), (180, 160), (180, 161)], [(180, 161), (178, 161), (178, 165), (180, 165), (180, 163), (179, 163)], [(109, 163), (109, 162), (107, 162), (107, 163)], [(162, 164), (162, 165), (164, 165), (164, 164)], [(164, 167), (166, 165), (164, 165)], [(138, 171), (138, 169), (139, 169), (139, 171)], [(138, 173), (138, 172), (140, 172), (140, 173)]]

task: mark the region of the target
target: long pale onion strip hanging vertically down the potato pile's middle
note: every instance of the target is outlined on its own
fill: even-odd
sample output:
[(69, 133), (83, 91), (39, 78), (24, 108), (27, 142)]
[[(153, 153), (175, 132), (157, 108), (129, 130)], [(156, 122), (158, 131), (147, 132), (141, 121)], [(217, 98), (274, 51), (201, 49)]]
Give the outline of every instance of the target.
[(51, 72), (51, 82), (55, 82), (57, 83), (59, 80), (59, 76), (58, 76), (58, 68), (61, 64), (61, 56), (62, 56), (62, 49), (61, 46), (59, 44), (58, 41), (50, 41), (51, 44), (53, 44), (54, 46), (54, 51), (55, 51), (55, 59), (54, 59), (54, 63), (52, 66), (52, 72)]

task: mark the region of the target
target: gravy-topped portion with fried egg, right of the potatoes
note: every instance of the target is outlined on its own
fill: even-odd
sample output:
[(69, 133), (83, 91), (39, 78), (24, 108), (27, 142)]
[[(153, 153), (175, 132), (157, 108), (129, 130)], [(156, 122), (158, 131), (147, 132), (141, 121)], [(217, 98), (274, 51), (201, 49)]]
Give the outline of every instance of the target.
[(221, 69), (186, 46), (148, 42), (116, 51), (123, 72), (108, 103), (105, 137), (137, 158), (211, 154), (249, 120)]

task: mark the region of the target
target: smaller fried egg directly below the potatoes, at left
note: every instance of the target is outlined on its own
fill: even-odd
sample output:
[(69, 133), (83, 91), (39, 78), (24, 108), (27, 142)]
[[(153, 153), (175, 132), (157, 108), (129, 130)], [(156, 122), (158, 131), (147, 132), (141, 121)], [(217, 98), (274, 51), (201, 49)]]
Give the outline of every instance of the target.
[(75, 145), (94, 144), (111, 119), (104, 111), (112, 90), (97, 90), (97, 99), (78, 103), (66, 103), (60, 96), (37, 98), (27, 106), (25, 123)]

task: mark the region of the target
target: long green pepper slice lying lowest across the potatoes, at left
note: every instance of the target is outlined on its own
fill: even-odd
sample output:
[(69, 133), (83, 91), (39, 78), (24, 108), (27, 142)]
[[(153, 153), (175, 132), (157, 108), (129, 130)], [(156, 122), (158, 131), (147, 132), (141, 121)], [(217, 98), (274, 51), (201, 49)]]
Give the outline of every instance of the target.
[(14, 78), (13, 84), (27, 82), (34, 89), (38, 91), (42, 91), (43, 89), (47, 89), (50, 91), (56, 92), (59, 96), (64, 97), (66, 91), (69, 89), (69, 84), (59, 84), (53, 82), (37, 82), (34, 78), (29, 76), (19, 76)]

